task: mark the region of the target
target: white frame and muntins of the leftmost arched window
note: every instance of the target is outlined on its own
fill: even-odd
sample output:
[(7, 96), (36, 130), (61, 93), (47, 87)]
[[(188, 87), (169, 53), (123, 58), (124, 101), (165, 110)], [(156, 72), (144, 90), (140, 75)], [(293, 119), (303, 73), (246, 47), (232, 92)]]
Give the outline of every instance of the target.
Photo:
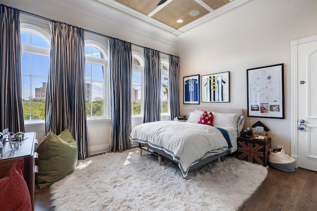
[[(29, 32), (29, 33), (34, 33), (37, 34), (38, 36), (42, 37), (45, 41), (48, 42), (49, 46), (51, 46), (51, 36), (50, 34), (38, 27), (35, 26), (33, 24), (28, 24), (28, 23), (20, 23), (20, 32)], [(32, 39), (32, 37), (30, 37), (30, 39)], [(31, 40), (30, 40), (31, 41)], [(30, 42), (30, 44), (32, 44), (32, 42)], [(31, 60), (30, 60), (30, 74), (22, 74), (22, 66), (21, 66), (21, 77), (22, 76), (29, 76), (30, 77), (30, 88), (32, 88), (32, 77), (41, 77), (41, 78), (46, 78), (48, 79), (48, 76), (43, 76), (43, 75), (33, 75), (32, 74), (32, 55), (41, 55), (41, 56), (48, 56), (49, 59), (51, 59), (51, 48), (47, 49), (47, 48), (42, 48), (42, 47), (38, 47), (38, 46), (32, 46), (32, 45), (26, 45), (26, 44), (22, 44), (21, 43), (21, 59), (22, 59), (22, 53), (28, 53), (31, 56)], [(47, 80), (46, 80), (47, 81)], [(32, 89), (30, 89), (32, 92)], [(35, 89), (34, 89), (35, 91)], [(23, 93), (23, 89), (22, 89), (22, 93)], [(22, 95), (22, 101), (23, 99), (27, 99), (27, 98), (23, 98)], [(30, 116), (28, 119), (24, 119), (24, 115), (23, 115), (23, 120), (26, 124), (28, 123), (44, 123), (45, 119), (32, 119), (32, 97), (28, 98), (28, 100), (30, 100)], [(43, 99), (43, 98), (39, 98), (39, 99)]]

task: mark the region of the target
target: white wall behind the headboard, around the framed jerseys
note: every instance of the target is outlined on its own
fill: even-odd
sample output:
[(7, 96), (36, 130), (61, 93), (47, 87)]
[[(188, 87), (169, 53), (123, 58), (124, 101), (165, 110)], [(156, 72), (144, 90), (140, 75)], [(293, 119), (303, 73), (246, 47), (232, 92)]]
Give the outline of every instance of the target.
[(251, 0), (180, 35), (180, 84), (184, 76), (230, 71), (230, 103), (183, 105), (181, 94), (181, 115), (210, 106), (243, 108), (247, 116), (246, 70), (284, 63), (285, 119), (247, 117), (245, 126), (262, 121), (272, 147), (282, 145), (290, 154), (290, 41), (317, 35), (316, 9), (317, 0)]

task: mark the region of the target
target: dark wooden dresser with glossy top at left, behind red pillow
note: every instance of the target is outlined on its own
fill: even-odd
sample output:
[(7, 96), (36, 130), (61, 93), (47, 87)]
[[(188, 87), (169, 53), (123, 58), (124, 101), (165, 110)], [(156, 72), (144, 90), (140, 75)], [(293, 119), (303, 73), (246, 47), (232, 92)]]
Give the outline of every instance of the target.
[(34, 152), (35, 144), (38, 144), (35, 135), (35, 132), (25, 133), (20, 149), (16, 149), (14, 154), (9, 150), (9, 143), (3, 142), (3, 154), (2, 159), (0, 159), (0, 178), (6, 175), (8, 170), (18, 159), (23, 159), (22, 172), (30, 191), (32, 210), (34, 210), (35, 172), (38, 170), (35, 165), (35, 158), (38, 158), (38, 154)]

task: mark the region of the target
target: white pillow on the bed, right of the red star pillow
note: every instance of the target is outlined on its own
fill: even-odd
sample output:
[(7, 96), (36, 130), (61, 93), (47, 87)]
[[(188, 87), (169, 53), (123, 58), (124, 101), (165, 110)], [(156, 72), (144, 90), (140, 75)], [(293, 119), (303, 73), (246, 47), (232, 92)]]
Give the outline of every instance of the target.
[(244, 125), (244, 116), (238, 113), (218, 113), (212, 111), (214, 127), (233, 127), (240, 132)]

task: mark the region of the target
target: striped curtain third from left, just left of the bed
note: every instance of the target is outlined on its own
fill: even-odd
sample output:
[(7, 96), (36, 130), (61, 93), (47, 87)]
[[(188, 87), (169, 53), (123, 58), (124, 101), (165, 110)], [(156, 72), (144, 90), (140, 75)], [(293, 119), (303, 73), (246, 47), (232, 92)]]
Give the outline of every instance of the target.
[(131, 43), (109, 40), (111, 138), (109, 152), (131, 149)]

